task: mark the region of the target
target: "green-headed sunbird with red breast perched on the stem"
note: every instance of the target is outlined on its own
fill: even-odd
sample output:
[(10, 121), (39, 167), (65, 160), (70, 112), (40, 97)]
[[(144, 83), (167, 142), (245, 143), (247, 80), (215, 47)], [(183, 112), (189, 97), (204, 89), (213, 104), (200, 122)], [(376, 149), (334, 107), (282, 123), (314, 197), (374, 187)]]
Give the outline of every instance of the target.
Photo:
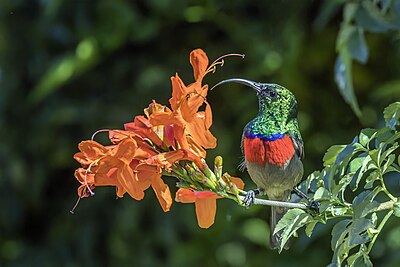
[[(249, 190), (245, 205), (250, 206), (258, 194), (270, 200), (289, 201), (291, 192), (303, 177), (304, 144), (297, 120), (297, 101), (292, 92), (278, 84), (253, 82), (241, 78), (227, 79), (253, 88), (258, 97), (258, 114), (244, 127), (242, 151), (245, 167), (257, 189)], [(287, 208), (271, 207), (270, 247), (279, 248), (281, 233), (274, 229)], [(288, 249), (289, 245), (286, 244)]]

